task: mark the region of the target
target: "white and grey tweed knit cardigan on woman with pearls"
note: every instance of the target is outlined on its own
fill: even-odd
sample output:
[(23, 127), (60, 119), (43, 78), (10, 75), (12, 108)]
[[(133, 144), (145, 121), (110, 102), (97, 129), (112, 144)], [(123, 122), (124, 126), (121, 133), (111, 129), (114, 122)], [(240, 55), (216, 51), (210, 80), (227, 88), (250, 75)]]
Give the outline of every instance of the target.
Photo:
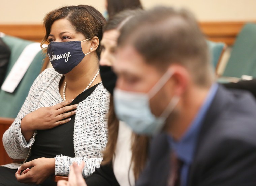
[[(62, 75), (54, 69), (46, 69), (34, 81), (29, 94), (19, 111), (15, 121), (3, 135), (3, 144), (8, 155), (13, 159), (25, 159), (28, 156), (35, 138), (28, 143), (23, 140), (21, 120), (30, 112), (46, 106), (62, 102), (59, 93), (59, 82)], [(109, 109), (109, 92), (102, 82), (93, 93), (80, 102), (76, 109), (74, 124), (75, 158), (55, 157), (55, 174), (67, 176), (73, 162), (85, 162), (83, 176), (91, 175), (102, 161), (101, 151), (107, 144), (107, 113)], [(70, 131), (73, 132), (73, 131)], [(34, 133), (36, 136), (36, 132)], [(18, 168), (18, 164), (7, 164), (5, 167)]]

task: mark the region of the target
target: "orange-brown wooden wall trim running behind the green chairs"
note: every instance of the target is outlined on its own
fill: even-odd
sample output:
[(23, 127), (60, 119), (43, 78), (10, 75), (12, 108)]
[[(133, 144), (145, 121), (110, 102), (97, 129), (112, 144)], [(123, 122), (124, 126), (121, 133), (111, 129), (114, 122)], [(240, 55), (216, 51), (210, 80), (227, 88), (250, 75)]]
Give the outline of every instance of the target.
[[(256, 21), (253, 21), (256, 22)], [(245, 22), (199, 22), (207, 39), (232, 45)], [(42, 25), (0, 25), (0, 32), (40, 42), (44, 36)]]

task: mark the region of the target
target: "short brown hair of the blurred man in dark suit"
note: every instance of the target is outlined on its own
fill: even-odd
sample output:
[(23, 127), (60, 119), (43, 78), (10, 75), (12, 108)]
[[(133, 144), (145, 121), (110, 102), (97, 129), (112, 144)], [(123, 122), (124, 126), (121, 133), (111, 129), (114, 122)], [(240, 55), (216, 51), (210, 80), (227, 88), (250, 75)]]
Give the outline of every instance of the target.
[(129, 22), (121, 29), (119, 47), (131, 44), (147, 63), (162, 69), (181, 64), (193, 72), (196, 84), (211, 84), (214, 73), (206, 39), (192, 13), (156, 7)]

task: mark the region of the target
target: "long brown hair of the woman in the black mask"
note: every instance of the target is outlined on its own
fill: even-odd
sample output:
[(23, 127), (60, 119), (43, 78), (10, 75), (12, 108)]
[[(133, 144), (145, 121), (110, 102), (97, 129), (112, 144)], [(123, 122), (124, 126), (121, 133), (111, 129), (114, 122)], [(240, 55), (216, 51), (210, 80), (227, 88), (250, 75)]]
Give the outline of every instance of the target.
[[(123, 21), (127, 19), (129, 16), (136, 16), (140, 14), (142, 10), (126, 10), (124, 12), (118, 13), (112, 19), (110, 19), (104, 31), (117, 29)], [(106, 149), (103, 152), (103, 161), (102, 165), (110, 164), (113, 156), (115, 155), (117, 137), (118, 137), (118, 128), (119, 128), (119, 120), (116, 117), (114, 112), (113, 105), (113, 96), (110, 97), (110, 106), (108, 113), (108, 142)], [(149, 145), (149, 137), (143, 135), (137, 135), (135, 133), (132, 134), (132, 158), (131, 163), (133, 166), (133, 172), (135, 180), (138, 179), (141, 171), (143, 170), (146, 160), (148, 158), (148, 145)]]

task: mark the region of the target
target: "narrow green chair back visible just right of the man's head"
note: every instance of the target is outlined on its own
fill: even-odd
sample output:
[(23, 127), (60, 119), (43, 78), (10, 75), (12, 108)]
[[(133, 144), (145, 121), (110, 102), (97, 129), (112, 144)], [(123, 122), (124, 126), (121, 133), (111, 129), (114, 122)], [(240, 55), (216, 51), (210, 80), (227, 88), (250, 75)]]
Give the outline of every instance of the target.
[(209, 40), (207, 40), (207, 44), (208, 44), (213, 67), (214, 69), (216, 69), (226, 45), (225, 43), (222, 43), (222, 42), (213, 42)]

